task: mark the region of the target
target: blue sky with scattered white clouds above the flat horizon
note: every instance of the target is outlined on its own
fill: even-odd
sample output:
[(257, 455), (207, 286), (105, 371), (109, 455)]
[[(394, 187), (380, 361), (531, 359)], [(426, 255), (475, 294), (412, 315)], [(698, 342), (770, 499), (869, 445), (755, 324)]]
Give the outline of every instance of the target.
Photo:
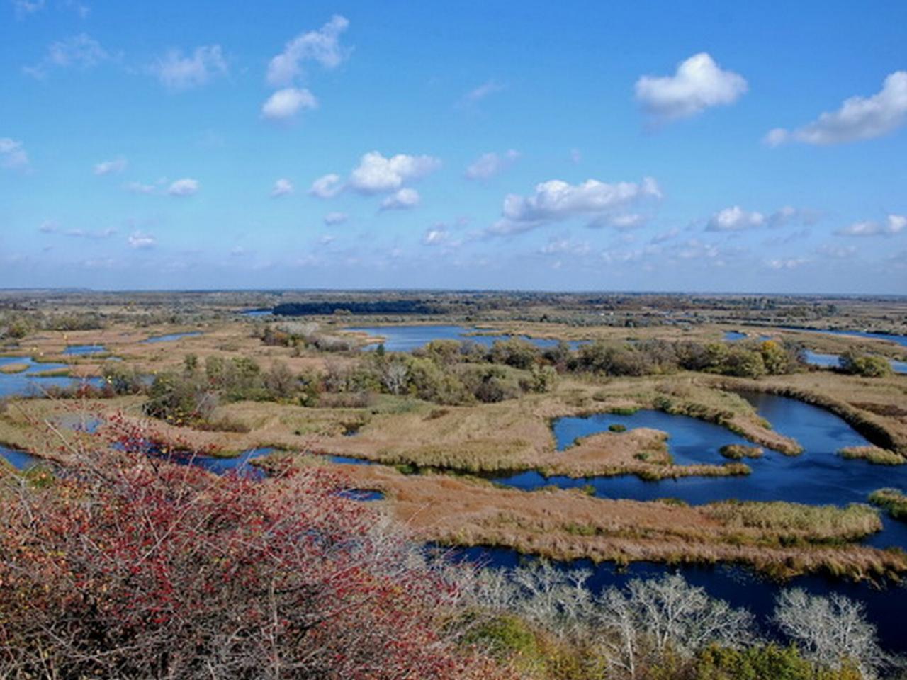
[(0, 287), (907, 294), (907, 3), (0, 0)]

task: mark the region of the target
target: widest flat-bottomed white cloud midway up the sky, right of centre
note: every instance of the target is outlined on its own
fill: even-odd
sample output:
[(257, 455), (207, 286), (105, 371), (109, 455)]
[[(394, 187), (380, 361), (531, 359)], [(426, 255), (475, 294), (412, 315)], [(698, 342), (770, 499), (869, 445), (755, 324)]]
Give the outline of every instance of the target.
[(488, 231), (514, 234), (574, 217), (606, 219), (641, 199), (660, 199), (661, 195), (658, 183), (650, 177), (639, 183), (616, 184), (586, 180), (572, 185), (550, 180), (536, 185), (530, 196), (508, 194), (503, 201), (502, 219)]

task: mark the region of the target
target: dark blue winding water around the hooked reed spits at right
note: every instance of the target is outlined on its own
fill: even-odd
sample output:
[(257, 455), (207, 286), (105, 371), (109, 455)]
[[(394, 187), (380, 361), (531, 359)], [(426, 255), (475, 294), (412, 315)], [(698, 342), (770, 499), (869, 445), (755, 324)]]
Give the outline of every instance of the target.
[[(678, 480), (643, 481), (633, 475), (619, 477), (546, 478), (536, 471), (493, 478), (500, 484), (532, 491), (547, 485), (571, 489), (591, 485), (602, 498), (657, 500), (678, 498), (697, 505), (716, 500), (788, 500), (814, 505), (865, 502), (867, 496), (887, 486), (907, 489), (907, 465), (890, 467), (846, 460), (837, 452), (869, 442), (841, 418), (824, 409), (773, 394), (746, 394), (759, 415), (775, 431), (793, 437), (804, 447), (798, 456), (765, 449), (762, 458), (746, 459), (752, 474), (735, 477), (683, 477)], [(677, 462), (727, 462), (718, 449), (743, 438), (713, 423), (682, 415), (640, 411), (633, 415), (600, 414), (589, 418), (561, 418), (553, 429), (559, 450), (576, 436), (607, 432), (611, 423), (628, 428), (654, 427), (668, 432), (668, 450)], [(637, 420), (638, 419), (638, 420)], [(765, 447), (764, 447), (765, 448)], [(570, 450), (561, 455), (569, 456)], [(876, 539), (883, 545), (907, 547), (907, 529), (892, 522), (892, 532)]]

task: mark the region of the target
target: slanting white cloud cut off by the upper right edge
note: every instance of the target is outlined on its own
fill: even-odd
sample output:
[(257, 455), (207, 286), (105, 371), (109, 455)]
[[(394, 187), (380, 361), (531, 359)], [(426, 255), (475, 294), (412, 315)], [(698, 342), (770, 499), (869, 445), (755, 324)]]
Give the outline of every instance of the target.
[(764, 141), (777, 146), (785, 141), (805, 144), (841, 144), (882, 137), (907, 122), (907, 71), (890, 73), (881, 92), (872, 97), (851, 97), (834, 112), (824, 112), (813, 122), (787, 131), (775, 128)]

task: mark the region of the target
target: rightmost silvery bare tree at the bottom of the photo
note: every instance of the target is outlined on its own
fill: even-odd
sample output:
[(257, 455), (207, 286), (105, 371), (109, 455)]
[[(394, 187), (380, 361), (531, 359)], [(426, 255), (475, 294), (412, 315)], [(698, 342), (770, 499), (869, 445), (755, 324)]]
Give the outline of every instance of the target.
[(804, 656), (829, 668), (852, 663), (864, 678), (892, 662), (879, 646), (863, 603), (834, 593), (809, 595), (802, 588), (782, 592), (775, 603), (775, 623)]

